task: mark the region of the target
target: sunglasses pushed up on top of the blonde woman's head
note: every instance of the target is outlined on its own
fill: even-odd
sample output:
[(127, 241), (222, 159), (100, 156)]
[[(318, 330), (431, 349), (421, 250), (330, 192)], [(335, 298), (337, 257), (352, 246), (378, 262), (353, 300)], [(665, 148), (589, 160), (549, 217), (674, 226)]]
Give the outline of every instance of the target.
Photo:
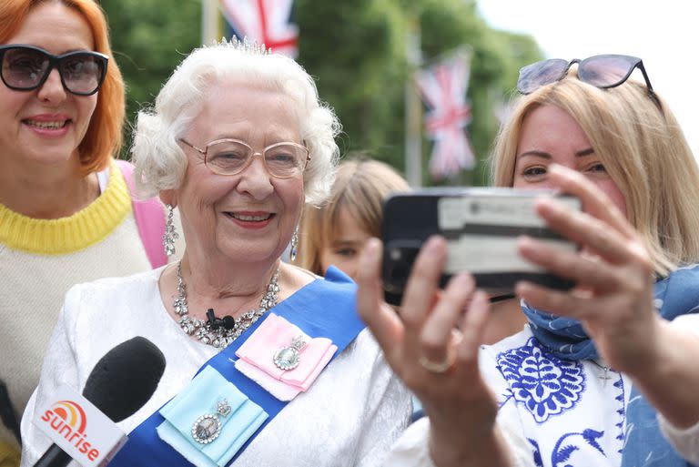
[(653, 86), (645, 73), (643, 60), (635, 56), (603, 55), (591, 56), (581, 60), (575, 58), (570, 62), (562, 58), (542, 60), (532, 65), (524, 66), (520, 70), (520, 78), (517, 80), (517, 90), (522, 94), (532, 94), (541, 86), (550, 85), (561, 81), (571, 68), (572, 64), (578, 64), (578, 79), (593, 86), (608, 88), (623, 84), (633, 70), (638, 68), (643, 73), (648, 93), (655, 97)]

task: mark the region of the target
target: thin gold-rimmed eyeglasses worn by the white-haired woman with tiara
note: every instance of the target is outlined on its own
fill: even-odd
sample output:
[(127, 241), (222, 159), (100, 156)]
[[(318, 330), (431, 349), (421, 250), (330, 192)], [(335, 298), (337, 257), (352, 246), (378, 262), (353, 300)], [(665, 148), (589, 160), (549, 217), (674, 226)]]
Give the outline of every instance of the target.
[(218, 175), (239, 174), (259, 154), (272, 177), (290, 178), (303, 173), (310, 159), (309, 150), (297, 143), (275, 143), (259, 153), (238, 139), (217, 139), (203, 149), (184, 139), (180, 141), (203, 154), (204, 165)]

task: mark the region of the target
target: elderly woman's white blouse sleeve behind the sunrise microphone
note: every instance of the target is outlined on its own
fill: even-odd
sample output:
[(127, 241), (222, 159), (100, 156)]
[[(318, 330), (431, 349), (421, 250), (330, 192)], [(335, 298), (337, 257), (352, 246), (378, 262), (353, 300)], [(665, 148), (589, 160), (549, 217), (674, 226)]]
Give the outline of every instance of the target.
[[(81, 390), (78, 388), (76, 353), (72, 332), (75, 328), (74, 315), (79, 300), (79, 286), (68, 290), (63, 308), (58, 315), (54, 333), (48, 342), (39, 384), (29, 399), (22, 416), (21, 467), (34, 465), (52, 443), (34, 423), (35, 418), (39, 415), (36, 412), (37, 408), (43, 407), (60, 386)], [(71, 462), (70, 465), (77, 465), (77, 463)]]

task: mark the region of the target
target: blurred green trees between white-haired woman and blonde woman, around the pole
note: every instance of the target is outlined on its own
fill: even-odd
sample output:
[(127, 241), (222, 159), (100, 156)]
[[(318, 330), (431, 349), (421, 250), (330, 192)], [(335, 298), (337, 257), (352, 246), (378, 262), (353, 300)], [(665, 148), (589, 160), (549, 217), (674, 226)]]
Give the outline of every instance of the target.
[[(410, 15), (420, 22), (426, 63), (469, 46), (471, 83), (468, 127), (477, 167), (445, 184), (487, 183), (484, 162), (499, 122), (496, 106), (516, 80), (517, 70), (541, 57), (529, 37), (491, 29), (464, 0), (297, 0), (301, 29), (299, 62), (318, 77), (320, 96), (336, 109), (345, 133), (341, 147), (368, 150), (404, 169), (404, 88), (409, 77), (405, 38)], [(423, 137), (423, 168), (431, 142)], [(428, 184), (431, 180), (425, 176)]]

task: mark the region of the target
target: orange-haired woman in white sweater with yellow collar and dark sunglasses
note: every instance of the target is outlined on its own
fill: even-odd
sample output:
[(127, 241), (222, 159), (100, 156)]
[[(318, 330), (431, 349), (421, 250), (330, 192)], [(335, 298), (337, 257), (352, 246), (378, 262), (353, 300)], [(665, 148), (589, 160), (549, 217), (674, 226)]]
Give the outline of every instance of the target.
[[(135, 221), (121, 172), (129, 167), (114, 160), (125, 99), (106, 31), (93, 0), (0, 7), (3, 465), (19, 446), (10, 415), (20, 416), (34, 391), (66, 290), (165, 262), (148, 256), (139, 230), (145, 221)], [(164, 209), (153, 201), (137, 209), (156, 220), (143, 234), (157, 244)]]

